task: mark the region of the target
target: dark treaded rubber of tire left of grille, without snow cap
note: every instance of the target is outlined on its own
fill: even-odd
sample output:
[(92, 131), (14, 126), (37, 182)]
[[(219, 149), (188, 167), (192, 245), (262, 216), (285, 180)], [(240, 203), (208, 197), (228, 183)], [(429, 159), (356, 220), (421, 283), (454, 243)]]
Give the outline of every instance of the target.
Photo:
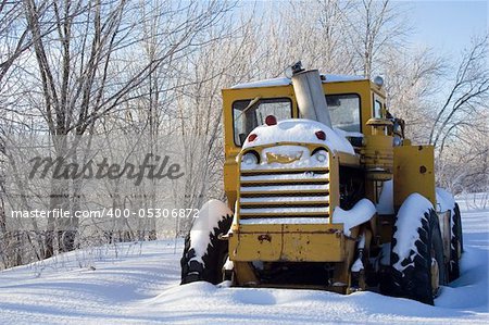
[(227, 234), (231, 222), (233, 215), (225, 214), (220, 216), (217, 224), (209, 227), (209, 243), (201, 257), (198, 257), (198, 249), (191, 240), (192, 226), (192, 229), (185, 237), (184, 253), (180, 259), (180, 285), (201, 280), (216, 285), (223, 280), (223, 265), (228, 255), (228, 243), (218, 237)]

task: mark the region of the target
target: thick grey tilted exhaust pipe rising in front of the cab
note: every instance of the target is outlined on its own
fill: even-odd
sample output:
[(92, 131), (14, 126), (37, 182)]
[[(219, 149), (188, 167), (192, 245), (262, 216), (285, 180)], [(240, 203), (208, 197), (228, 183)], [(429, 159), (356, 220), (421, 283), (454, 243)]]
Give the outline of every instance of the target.
[(333, 128), (319, 72), (305, 71), (299, 61), (292, 65), (292, 87), (301, 117), (317, 121)]

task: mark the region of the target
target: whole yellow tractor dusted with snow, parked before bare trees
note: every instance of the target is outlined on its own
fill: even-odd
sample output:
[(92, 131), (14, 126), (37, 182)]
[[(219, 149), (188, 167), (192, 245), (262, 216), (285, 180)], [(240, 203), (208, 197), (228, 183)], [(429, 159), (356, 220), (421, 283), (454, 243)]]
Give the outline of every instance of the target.
[(459, 277), (457, 204), (435, 187), (383, 79), (321, 75), (223, 90), (227, 204), (204, 204), (181, 284), (375, 290), (434, 303)]

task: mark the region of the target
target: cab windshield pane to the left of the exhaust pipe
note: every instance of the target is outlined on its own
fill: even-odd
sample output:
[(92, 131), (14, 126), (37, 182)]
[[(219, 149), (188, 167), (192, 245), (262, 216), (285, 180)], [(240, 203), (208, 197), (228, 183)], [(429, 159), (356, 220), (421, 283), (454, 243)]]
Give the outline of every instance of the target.
[(233, 103), (234, 137), (240, 147), (265, 117), (274, 115), (277, 121), (292, 118), (292, 101), (289, 98), (263, 98), (237, 100)]

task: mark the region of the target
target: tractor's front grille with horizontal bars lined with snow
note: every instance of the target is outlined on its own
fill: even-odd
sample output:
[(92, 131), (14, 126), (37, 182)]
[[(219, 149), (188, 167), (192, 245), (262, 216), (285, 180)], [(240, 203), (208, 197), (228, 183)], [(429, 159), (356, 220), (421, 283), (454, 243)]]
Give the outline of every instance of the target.
[(327, 167), (241, 171), (239, 217), (329, 216)]

